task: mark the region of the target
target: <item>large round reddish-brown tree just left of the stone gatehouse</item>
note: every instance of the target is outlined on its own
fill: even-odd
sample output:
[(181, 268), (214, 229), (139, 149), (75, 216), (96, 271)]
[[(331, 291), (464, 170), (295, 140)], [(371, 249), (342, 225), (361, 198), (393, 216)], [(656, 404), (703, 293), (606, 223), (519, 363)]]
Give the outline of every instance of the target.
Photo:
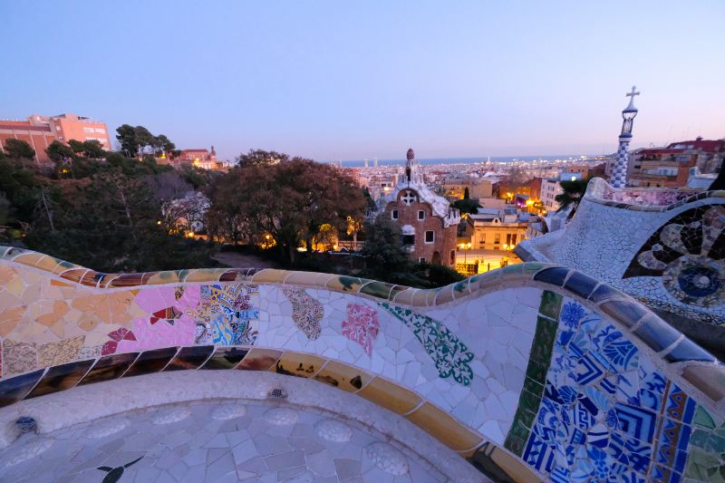
[(238, 243), (269, 235), (292, 262), (302, 241), (312, 250), (325, 224), (344, 231), (348, 217), (362, 216), (362, 190), (333, 166), (262, 150), (239, 162), (209, 188), (208, 227), (216, 237)]

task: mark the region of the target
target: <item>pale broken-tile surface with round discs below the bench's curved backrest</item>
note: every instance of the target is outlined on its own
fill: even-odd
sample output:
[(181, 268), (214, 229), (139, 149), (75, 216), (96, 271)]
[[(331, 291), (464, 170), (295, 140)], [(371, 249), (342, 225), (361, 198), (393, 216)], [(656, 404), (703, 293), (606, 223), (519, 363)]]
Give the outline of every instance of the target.
[(268, 401), (195, 401), (129, 411), (0, 453), (1, 481), (446, 481), (360, 423)]

